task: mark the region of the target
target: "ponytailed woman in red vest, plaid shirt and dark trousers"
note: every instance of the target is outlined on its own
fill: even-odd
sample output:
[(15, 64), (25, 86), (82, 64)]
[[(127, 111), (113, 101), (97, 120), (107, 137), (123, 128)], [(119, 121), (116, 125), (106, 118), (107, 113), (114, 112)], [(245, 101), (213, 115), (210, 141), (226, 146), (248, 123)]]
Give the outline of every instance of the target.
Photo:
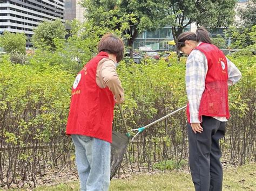
[(212, 45), (208, 32), (184, 32), (177, 48), (188, 55), (186, 92), (188, 98), (188, 144), (190, 169), (196, 190), (221, 190), (223, 169), (219, 139), (224, 137), (228, 111), (228, 86), (241, 73), (219, 48)]

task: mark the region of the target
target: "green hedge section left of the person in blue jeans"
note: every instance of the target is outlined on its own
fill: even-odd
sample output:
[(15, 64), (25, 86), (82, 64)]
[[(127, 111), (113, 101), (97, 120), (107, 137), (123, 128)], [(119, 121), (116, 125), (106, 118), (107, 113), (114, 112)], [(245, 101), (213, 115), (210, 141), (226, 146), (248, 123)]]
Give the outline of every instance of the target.
[(65, 136), (73, 76), (56, 67), (0, 63), (0, 169), (6, 185), (36, 183), (49, 166), (70, 161)]

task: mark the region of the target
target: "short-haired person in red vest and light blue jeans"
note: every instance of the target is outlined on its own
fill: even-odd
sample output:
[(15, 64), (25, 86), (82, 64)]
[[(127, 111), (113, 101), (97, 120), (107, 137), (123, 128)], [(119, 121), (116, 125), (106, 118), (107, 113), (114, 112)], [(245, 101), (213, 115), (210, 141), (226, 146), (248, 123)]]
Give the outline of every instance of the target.
[(66, 134), (76, 148), (80, 190), (109, 189), (114, 104), (124, 101), (116, 66), (123, 55), (123, 41), (105, 34), (98, 55), (86, 63), (73, 83)]

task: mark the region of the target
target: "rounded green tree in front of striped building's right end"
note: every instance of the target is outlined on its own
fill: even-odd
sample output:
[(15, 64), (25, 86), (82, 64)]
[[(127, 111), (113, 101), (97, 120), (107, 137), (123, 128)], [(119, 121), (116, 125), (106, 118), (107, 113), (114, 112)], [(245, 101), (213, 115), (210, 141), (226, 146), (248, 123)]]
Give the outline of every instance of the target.
[(48, 47), (55, 51), (56, 45), (53, 39), (65, 39), (67, 34), (65, 25), (60, 20), (45, 21), (39, 24), (32, 36), (32, 43), (35, 47)]

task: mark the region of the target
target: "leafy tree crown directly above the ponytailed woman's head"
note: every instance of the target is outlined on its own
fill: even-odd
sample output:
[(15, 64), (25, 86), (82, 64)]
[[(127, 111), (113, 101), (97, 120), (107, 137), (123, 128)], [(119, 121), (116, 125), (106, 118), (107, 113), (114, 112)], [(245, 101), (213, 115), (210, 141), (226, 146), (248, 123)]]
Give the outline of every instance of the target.
[(171, 11), (176, 17), (166, 20), (166, 24), (172, 26), (172, 35), (175, 42), (177, 42), (178, 36), (184, 31), (185, 27), (191, 23), (214, 29), (230, 25), (235, 15), (236, 1), (234, 0), (171, 0), (169, 2)]

